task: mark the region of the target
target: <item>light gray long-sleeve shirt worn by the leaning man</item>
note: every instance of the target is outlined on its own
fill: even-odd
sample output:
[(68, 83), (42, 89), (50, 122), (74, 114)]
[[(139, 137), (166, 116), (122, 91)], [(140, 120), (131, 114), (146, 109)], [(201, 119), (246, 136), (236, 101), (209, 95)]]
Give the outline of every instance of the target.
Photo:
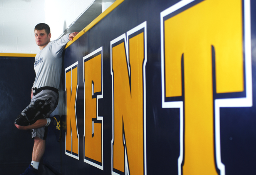
[(60, 89), (62, 52), (69, 42), (69, 34), (51, 41), (35, 56), (35, 82), (33, 88), (54, 87)]

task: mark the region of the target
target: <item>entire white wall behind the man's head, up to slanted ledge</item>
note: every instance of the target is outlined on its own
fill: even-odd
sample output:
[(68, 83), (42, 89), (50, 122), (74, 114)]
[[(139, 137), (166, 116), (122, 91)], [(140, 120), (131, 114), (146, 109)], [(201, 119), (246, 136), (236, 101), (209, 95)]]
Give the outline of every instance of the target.
[(94, 0), (0, 0), (0, 53), (37, 53), (35, 25), (47, 23), (54, 40), (92, 2)]

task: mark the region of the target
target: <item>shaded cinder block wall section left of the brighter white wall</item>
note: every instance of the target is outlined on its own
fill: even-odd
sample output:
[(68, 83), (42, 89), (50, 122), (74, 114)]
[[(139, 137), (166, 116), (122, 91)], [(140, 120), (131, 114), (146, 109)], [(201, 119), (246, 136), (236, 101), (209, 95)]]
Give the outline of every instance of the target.
[(45, 0), (0, 0), (0, 53), (37, 53), (38, 22), (45, 22)]

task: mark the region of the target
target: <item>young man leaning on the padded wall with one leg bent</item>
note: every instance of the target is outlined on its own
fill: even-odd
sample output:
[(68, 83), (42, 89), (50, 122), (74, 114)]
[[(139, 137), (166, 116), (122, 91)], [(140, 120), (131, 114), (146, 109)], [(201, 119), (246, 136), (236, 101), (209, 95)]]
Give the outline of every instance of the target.
[(73, 40), (78, 32), (64, 35), (59, 40), (50, 41), (50, 27), (45, 23), (35, 26), (35, 42), (40, 52), (35, 57), (35, 82), (31, 92), (30, 104), (18, 115), (15, 126), (20, 130), (31, 130), (34, 138), (31, 165), (22, 175), (37, 175), (39, 162), (44, 155), (47, 127), (55, 127), (59, 140), (61, 137), (60, 118), (50, 113), (58, 105), (62, 71), (62, 52), (65, 45)]

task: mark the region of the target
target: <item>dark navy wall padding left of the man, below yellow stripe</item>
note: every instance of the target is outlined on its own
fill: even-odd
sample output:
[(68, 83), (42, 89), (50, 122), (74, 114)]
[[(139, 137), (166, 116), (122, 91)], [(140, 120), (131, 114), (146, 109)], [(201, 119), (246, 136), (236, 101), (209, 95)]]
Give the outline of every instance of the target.
[(0, 57), (0, 171), (19, 174), (32, 158), (30, 131), (18, 130), (14, 120), (30, 103), (35, 80), (34, 58)]

